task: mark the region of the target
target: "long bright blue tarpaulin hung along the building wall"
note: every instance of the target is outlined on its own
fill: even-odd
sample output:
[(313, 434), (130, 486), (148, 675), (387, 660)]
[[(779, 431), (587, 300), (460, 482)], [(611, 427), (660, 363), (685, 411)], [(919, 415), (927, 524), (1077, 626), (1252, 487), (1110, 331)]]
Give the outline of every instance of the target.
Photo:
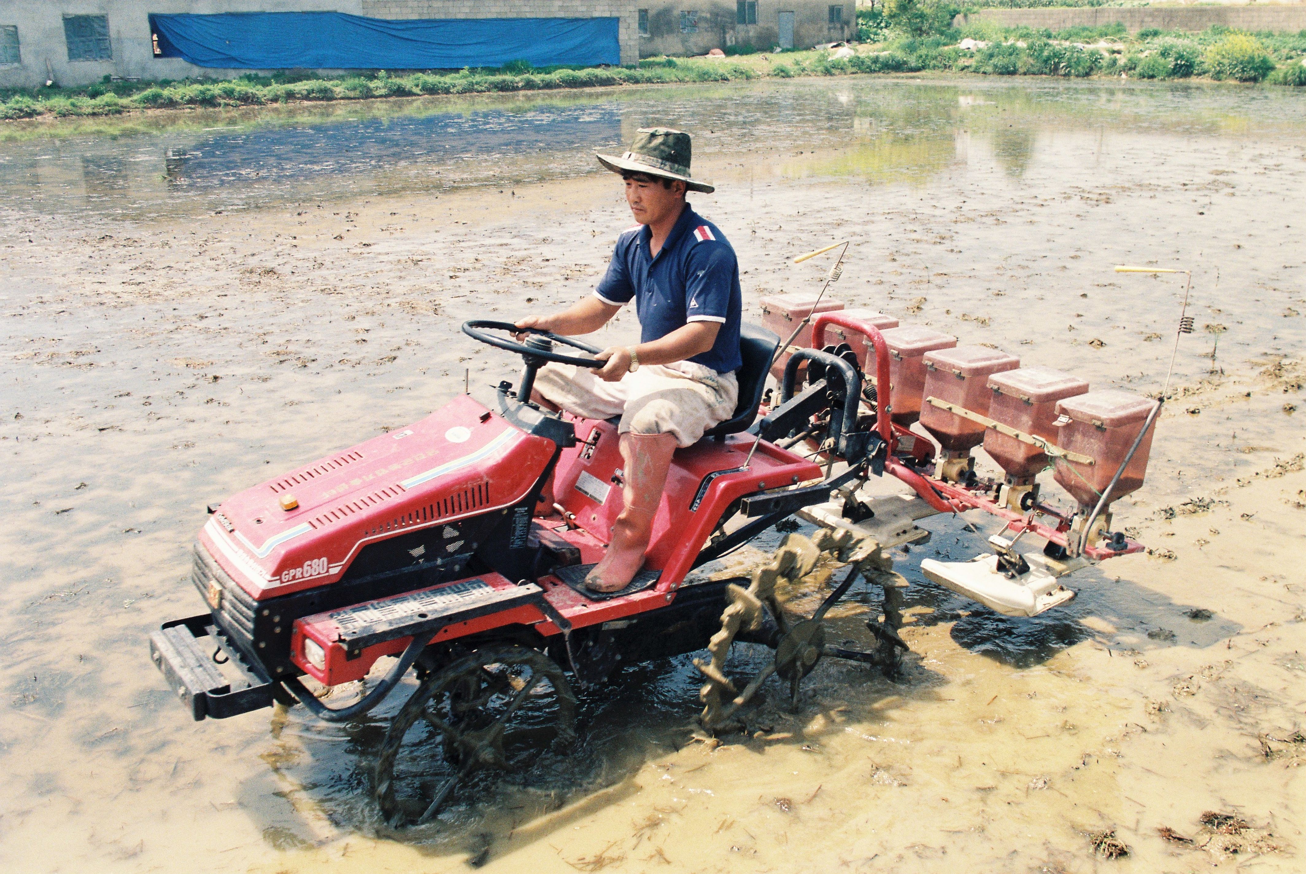
[(342, 12), (153, 14), (166, 57), (240, 69), (460, 69), (620, 64), (618, 18), (390, 21)]

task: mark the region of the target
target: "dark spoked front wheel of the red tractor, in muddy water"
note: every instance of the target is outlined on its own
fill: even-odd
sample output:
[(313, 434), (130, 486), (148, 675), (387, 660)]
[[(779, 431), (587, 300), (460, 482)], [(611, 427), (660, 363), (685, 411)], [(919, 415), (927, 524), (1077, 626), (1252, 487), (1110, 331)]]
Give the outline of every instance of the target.
[(576, 738), (576, 695), (562, 668), (517, 645), (494, 645), (427, 674), (394, 715), (374, 790), (394, 827), (440, 813), (473, 771), (521, 771)]

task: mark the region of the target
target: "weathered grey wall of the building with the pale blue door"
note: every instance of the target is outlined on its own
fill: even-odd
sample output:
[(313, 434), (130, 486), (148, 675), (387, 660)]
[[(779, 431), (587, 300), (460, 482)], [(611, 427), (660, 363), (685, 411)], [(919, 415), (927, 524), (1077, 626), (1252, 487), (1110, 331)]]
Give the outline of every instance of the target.
[[(648, 4), (648, 5), (645, 5)], [(640, 57), (653, 55), (705, 55), (726, 46), (754, 46), (774, 48), (780, 40), (780, 13), (794, 13), (794, 47), (811, 48), (819, 43), (850, 39), (855, 33), (857, 7), (854, 0), (757, 0), (757, 24), (737, 24), (735, 0), (674, 0), (654, 4), (636, 1), (639, 9), (648, 10), (649, 33), (640, 35)], [(829, 24), (829, 7), (844, 8), (844, 24)], [(680, 13), (697, 12), (697, 33), (680, 30)]]

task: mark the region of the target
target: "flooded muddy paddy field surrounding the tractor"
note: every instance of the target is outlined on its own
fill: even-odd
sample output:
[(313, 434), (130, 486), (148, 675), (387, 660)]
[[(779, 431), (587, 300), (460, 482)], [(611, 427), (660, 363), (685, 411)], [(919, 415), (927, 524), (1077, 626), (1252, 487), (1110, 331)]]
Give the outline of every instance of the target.
[[(840, 78), (4, 125), (0, 860), (1299, 870), (1303, 108), (1281, 90)], [(568, 760), (409, 832), (367, 798), (385, 712), (188, 722), (145, 638), (200, 609), (204, 504), (508, 375), (458, 323), (589, 291), (629, 223), (590, 149), (649, 123), (695, 132), (718, 191), (693, 202), (739, 251), (752, 314), (816, 287), (824, 264), (789, 257), (848, 236), (849, 306), (1157, 391), (1182, 281), (1110, 265), (1191, 269), (1177, 397), (1117, 504), (1155, 554), (1008, 619), (919, 575), (980, 551), (983, 520), (927, 520), (931, 543), (897, 557), (900, 682), (825, 660), (795, 712), (777, 687), (751, 734), (710, 746), (686, 728), (690, 661), (632, 666), (584, 696)], [(878, 609), (854, 589), (837, 635), (865, 643)], [(730, 669), (764, 658), (739, 647)], [(1105, 831), (1127, 856), (1094, 852)]]

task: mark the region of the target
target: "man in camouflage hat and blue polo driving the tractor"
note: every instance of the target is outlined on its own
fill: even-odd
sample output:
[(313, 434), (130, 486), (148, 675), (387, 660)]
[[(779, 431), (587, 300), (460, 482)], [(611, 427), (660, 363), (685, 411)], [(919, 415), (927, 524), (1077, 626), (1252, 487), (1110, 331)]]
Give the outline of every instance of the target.
[[(602, 370), (550, 363), (532, 398), (592, 419), (620, 417), (624, 510), (603, 559), (585, 577), (596, 592), (616, 592), (640, 571), (671, 453), (692, 445), (735, 409), (741, 367), (739, 265), (716, 225), (686, 202), (686, 191), (710, 193), (690, 176), (690, 135), (639, 132), (622, 157), (597, 155), (626, 180), (635, 227), (616, 240), (594, 295), (551, 316), (526, 316), (518, 328), (586, 334), (635, 300), (640, 342), (610, 346)], [(542, 498), (552, 510), (552, 496)]]

